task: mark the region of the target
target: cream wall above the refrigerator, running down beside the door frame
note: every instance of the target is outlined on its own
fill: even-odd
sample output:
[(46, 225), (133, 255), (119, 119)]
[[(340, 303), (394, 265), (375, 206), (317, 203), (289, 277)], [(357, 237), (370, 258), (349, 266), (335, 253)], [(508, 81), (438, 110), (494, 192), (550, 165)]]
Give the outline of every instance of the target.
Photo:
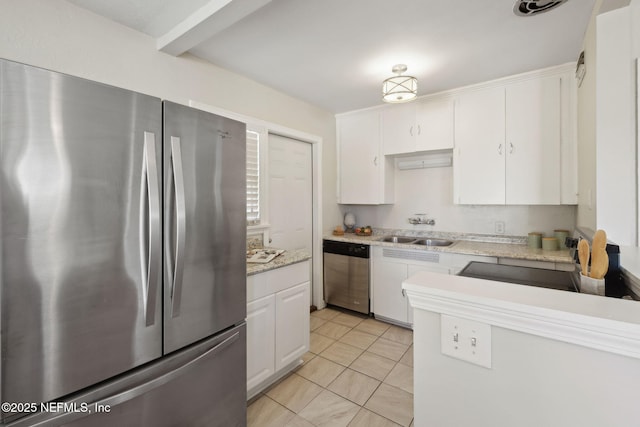
[(335, 118), (191, 55), (173, 57), (155, 40), (64, 0), (0, 0), (0, 57), (188, 104), (202, 102), (323, 139), (323, 229), (335, 204)]

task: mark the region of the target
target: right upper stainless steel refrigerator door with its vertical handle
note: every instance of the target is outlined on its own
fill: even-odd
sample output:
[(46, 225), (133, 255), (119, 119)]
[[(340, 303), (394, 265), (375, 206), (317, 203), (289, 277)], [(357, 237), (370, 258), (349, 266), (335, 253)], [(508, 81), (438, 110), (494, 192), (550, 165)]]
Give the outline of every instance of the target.
[(164, 351), (246, 317), (246, 128), (164, 105)]

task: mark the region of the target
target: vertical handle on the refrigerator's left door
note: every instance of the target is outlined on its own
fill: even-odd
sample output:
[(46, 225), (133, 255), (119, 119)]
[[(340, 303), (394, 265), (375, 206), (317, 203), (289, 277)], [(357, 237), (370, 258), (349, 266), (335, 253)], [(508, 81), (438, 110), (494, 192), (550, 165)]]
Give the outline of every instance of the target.
[(141, 188), (140, 257), (144, 286), (142, 295), (145, 306), (145, 324), (151, 326), (155, 323), (156, 297), (160, 280), (160, 257), (162, 256), (160, 251), (160, 185), (156, 160), (156, 136), (152, 132), (144, 133)]

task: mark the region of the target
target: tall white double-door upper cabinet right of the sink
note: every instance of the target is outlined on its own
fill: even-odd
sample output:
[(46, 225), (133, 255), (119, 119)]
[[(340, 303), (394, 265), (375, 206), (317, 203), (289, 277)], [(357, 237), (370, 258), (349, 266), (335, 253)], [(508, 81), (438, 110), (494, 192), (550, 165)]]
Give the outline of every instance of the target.
[(556, 73), (459, 94), (455, 203), (576, 202), (571, 83)]

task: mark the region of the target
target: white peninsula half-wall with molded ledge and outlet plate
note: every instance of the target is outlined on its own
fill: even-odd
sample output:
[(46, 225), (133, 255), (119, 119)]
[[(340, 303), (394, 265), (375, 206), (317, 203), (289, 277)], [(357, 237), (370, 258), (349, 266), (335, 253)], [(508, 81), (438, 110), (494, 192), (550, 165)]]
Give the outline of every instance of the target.
[(416, 425), (638, 422), (637, 301), (429, 272), (403, 289)]

